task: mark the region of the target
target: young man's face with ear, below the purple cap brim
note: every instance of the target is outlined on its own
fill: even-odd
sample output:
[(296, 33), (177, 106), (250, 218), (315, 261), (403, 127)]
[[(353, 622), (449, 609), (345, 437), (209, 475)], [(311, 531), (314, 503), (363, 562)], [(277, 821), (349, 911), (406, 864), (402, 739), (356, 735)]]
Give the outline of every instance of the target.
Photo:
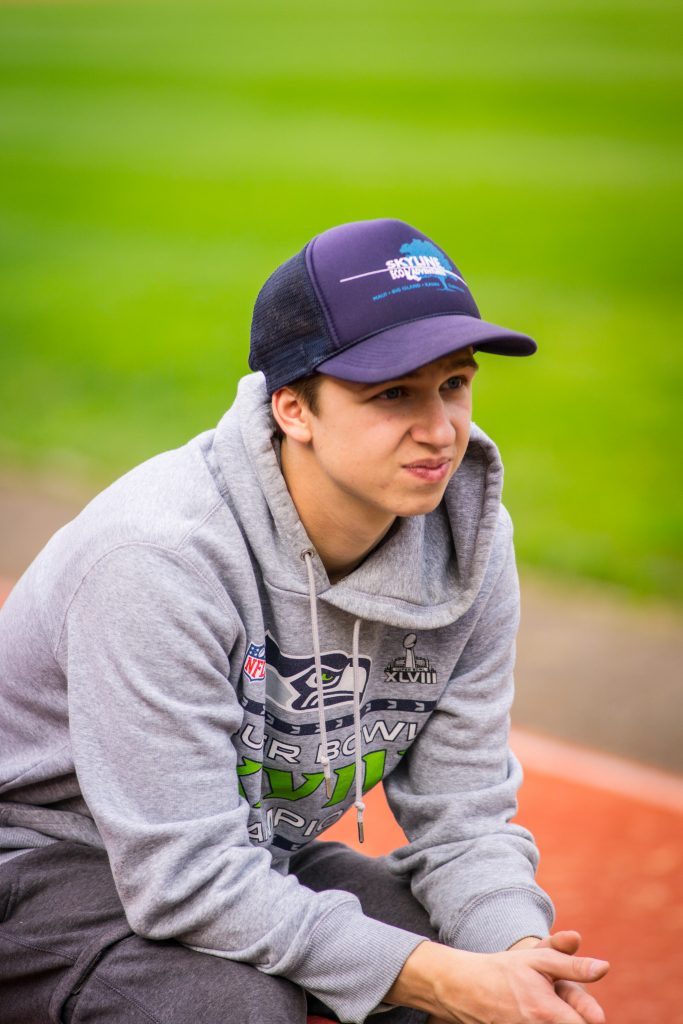
[(467, 348), (381, 384), (324, 377), (309, 421), (322, 495), (380, 519), (435, 509), (469, 441), (476, 370)]

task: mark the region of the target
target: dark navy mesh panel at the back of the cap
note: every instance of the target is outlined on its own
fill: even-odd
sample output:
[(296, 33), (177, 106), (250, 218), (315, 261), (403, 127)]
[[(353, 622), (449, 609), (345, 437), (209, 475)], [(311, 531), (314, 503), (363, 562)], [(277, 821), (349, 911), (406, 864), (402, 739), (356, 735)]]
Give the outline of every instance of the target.
[(270, 274), (258, 293), (249, 366), (268, 391), (312, 373), (330, 354), (330, 331), (306, 269), (305, 249)]

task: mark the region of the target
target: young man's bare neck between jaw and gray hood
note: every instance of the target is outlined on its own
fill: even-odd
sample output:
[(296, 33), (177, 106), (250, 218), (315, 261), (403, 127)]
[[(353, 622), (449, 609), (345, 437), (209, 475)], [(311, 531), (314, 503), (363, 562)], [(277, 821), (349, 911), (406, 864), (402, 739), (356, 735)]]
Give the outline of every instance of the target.
[(305, 445), (282, 443), (282, 470), (287, 488), (308, 537), (332, 583), (352, 572), (377, 547), (395, 520), (384, 510), (369, 515), (352, 496), (339, 493), (319, 472)]

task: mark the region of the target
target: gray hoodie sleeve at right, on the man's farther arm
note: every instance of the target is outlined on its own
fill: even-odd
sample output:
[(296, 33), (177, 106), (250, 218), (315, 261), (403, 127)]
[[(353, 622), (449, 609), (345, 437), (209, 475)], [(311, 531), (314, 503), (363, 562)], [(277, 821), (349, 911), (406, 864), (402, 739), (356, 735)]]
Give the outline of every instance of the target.
[(533, 839), (510, 823), (522, 775), (508, 746), (519, 588), (507, 513), (499, 536), (503, 569), (453, 678), (385, 780), (409, 839), (390, 866), (410, 877), (441, 941), (474, 952), (542, 937), (553, 920), (552, 903), (533, 881)]

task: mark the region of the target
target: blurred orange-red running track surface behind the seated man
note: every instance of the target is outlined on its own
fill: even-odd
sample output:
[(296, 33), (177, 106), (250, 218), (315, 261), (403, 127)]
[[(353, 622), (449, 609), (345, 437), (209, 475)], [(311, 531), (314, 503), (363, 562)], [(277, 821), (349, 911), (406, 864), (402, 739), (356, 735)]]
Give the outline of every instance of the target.
[[(0, 580), (0, 603), (9, 586)], [(525, 776), (518, 820), (541, 849), (556, 927), (611, 963), (594, 986), (609, 1024), (683, 1024), (683, 779), (520, 731), (512, 746)], [(381, 785), (366, 799), (362, 852), (402, 845)], [(325, 838), (357, 848), (354, 817)]]

